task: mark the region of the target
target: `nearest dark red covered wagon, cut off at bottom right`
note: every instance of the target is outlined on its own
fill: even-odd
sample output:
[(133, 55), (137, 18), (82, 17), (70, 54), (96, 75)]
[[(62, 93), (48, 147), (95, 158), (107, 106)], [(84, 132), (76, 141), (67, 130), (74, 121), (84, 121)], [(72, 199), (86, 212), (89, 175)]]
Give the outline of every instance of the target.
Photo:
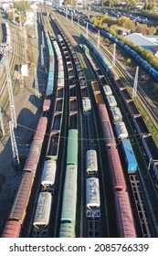
[(115, 191), (116, 219), (120, 238), (136, 238), (128, 193)]

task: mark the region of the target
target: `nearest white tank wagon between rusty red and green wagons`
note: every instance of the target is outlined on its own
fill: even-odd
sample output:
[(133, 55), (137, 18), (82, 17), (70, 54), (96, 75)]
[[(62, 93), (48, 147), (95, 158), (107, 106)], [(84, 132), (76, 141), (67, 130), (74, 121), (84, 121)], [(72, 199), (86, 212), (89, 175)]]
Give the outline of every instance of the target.
[(41, 192), (37, 200), (37, 210), (33, 222), (33, 226), (37, 229), (47, 227), (50, 218), (52, 197), (49, 192)]

